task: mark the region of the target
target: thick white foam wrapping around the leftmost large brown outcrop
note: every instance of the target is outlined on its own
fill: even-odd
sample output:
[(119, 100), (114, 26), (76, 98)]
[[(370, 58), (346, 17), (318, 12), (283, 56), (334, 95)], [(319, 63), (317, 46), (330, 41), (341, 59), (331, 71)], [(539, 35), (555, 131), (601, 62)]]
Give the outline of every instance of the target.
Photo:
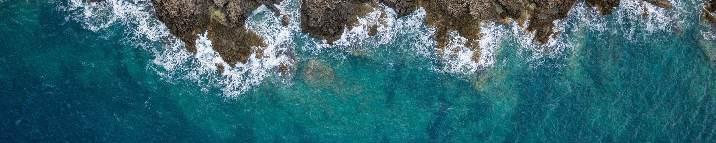
[[(253, 11), (247, 19), (246, 28), (256, 31), (256, 34), (263, 36), (267, 44), (263, 50), (265, 58), (257, 59), (256, 54), (244, 64), (237, 64), (231, 68), (216, 51), (211, 49), (211, 41), (205, 34), (200, 34), (195, 41), (197, 53), (189, 53), (183, 42), (176, 39), (168, 32), (168, 29), (153, 14), (150, 9), (151, 2), (148, 0), (120, 1), (105, 0), (102, 2), (88, 3), (84, 0), (69, 0), (67, 4), (58, 4), (60, 11), (67, 11), (67, 20), (78, 21), (84, 29), (98, 33), (111, 32), (112, 26), (121, 25), (125, 27), (126, 40), (131, 41), (137, 47), (153, 53), (153, 63), (158, 66), (148, 66), (147, 69), (154, 70), (166, 82), (196, 84), (203, 92), (210, 89), (220, 88), (223, 96), (239, 97), (243, 92), (248, 91), (263, 79), (272, 75), (273, 69), (281, 63), (286, 66), (293, 66), (291, 58), (284, 52), (292, 51), (291, 46), (293, 34), (300, 31), (299, 24), (295, 17), (298, 14), (297, 1), (284, 1), (276, 5), (283, 14), (291, 14), (294, 20), (289, 22), (288, 27), (281, 26), (281, 17), (275, 16), (274, 11), (261, 6)], [(254, 19), (256, 15), (263, 14), (264, 19)], [(163, 47), (156, 47), (155, 43), (165, 41)], [(258, 47), (254, 47), (258, 48)], [(216, 73), (216, 64), (225, 67), (223, 76), (213, 76)], [(290, 69), (289, 69), (290, 70)]]

